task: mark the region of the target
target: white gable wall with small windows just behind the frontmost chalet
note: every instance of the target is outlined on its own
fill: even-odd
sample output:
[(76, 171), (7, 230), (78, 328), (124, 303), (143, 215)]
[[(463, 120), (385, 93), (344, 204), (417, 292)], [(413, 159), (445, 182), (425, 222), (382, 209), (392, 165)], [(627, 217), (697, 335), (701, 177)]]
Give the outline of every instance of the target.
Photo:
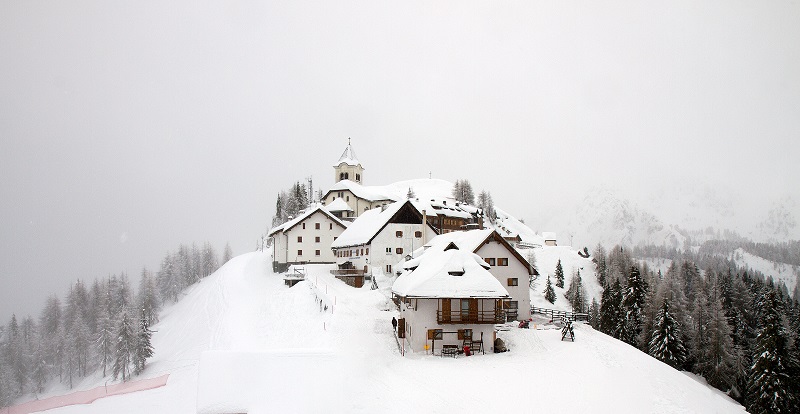
[[(508, 251), (502, 244), (491, 241), (484, 244), (478, 249), (478, 256), (486, 259), (489, 257), (495, 258), (495, 266), (489, 269), (489, 272), (497, 278), (511, 296), (511, 300), (518, 302), (518, 320), (530, 319), (531, 317), (531, 291), (528, 286), (528, 269), (525, 265), (520, 263), (514, 255)], [(508, 258), (508, 266), (497, 266), (498, 258)], [(518, 286), (508, 286), (509, 278), (517, 278), (519, 280)]]

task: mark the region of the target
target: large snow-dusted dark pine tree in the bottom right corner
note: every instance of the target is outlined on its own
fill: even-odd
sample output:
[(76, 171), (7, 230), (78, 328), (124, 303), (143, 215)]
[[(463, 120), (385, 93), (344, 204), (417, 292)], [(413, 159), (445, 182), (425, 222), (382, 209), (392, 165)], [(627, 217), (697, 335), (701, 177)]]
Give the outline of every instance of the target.
[(783, 326), (783, 303), (772, 289), (763, 293), (758, 303), (759, 333), (753, 354), (747, 411), (758, 413), (788, 412), (794, 406), (791, 393), (793, 363)]

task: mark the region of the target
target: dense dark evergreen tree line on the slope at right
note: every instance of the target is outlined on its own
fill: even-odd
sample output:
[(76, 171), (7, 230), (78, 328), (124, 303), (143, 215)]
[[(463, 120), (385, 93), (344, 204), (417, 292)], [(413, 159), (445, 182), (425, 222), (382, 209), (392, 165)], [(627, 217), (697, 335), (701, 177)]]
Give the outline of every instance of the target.
[(713, 255), (676, 254), (664, 274), (619, 246), (593, 256), (600, 303), (573, 307), (595, 329), (702, 375), (751, 413), (800, 412), (800, 304), (785, 287)]

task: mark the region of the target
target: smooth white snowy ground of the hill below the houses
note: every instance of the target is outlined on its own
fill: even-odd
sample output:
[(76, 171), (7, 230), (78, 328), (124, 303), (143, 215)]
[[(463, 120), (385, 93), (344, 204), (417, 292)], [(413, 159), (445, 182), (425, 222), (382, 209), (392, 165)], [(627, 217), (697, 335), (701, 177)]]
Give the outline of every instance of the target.
[[(244, 404), (250, 413), (315, 412), (318, 407), (309, 404), (315, 399), (330, 412), (356, 413), (744, 412), (693, 377), (585, 325), (577, 326), (574, 343), (561, 342), (552, 326), (508, 327), (499, 333), (511, 349), (505, 354), (403, 357), (381, 290), (350, 288), (324, 266), (309, 266), (307, 281), (290, 289), (268, 263), (261, 253), (239, 256), (163, 312), (154, 327), (156, 355), (143, 377), (169, 372), (165, 387), (50, 412), (208, 411), (209, 399), (228, 397), (204, 393), (198, 407), (198, 389), (216, 385), (238, 390), (221, 393), (230, 400), (217, 401), (218, 410)], [(320, 312), (318, 297), (332, 306)], [(306, 354), (312, 359), (303, 359)], [(201, 367), (203, 355), (246, 368), (231, 376), (212, 363)], [(308, 363), (320, 355), (330, 363)], [(291, 358), (299, 361), (299, 372), (313, 375), (282, 375)], [(287, 382), (306, 392), (286, 392)]]

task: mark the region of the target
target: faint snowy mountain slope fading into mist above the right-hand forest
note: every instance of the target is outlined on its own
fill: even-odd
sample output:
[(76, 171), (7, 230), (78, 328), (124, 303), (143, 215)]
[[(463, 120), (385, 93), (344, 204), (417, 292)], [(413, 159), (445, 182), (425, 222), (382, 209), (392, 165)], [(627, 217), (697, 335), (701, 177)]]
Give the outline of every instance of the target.
[(592, 248), (601, 243), (684, 248), (687, 240), (747, 237), (756, 242), (800, 239), (796, 203), (785, 196), (772, 203), (732, 190), (697, 184), (653, 185), (639, 200), (609, 186), (588, 190), (544, 216), (560, 244)]

